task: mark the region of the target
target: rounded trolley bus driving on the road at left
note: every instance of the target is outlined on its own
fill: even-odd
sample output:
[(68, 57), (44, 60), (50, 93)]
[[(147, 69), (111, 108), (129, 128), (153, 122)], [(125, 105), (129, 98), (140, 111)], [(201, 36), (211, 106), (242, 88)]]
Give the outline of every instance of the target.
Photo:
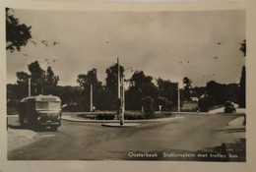
[(54, 95), (29, 96), (20, 101), (19, 120), (21, 126), (32, 128), (50, 127), (57, 131), (61, 125), (61, 100)]

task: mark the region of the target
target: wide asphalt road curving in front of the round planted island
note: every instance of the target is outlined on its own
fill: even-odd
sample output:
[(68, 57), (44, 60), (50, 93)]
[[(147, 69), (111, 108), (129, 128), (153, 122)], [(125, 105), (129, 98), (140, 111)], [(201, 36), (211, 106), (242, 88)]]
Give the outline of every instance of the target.
[[(185, 118), (146, 123), (135, 128), (109, 128), (98, 123), (62, 121), (58, 132), (49, 130), (37, 132), (35, 143), (9, 151), (8, 159), (209, 161), (226, 159), (223, 129), (226, 123), (235, 118), (234, 115), (179, 116)], [(211, 158), (204, 157), (209, 157), (210, 154)], [(244, 149), (241, 154), (245, 156)]]

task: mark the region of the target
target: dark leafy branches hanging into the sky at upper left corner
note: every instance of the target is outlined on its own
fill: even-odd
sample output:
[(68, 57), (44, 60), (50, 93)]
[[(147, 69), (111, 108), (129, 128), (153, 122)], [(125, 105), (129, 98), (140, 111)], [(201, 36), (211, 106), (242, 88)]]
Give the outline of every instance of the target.
[(32, 38), (31, 29), (25, 24), (21, 24), (19, 19), (10, 14), (13, 11), (6, 8), (6, 49), (11, 52), (21, 50), (22, 46), (28, 43), (28, 40)]

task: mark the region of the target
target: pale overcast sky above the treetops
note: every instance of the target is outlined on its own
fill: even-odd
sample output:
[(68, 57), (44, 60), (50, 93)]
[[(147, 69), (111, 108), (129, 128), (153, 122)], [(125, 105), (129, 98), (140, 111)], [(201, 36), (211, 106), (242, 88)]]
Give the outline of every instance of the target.
[[(38, 61), (51, 66), (59, 86), (78, 86), (77, 76), (97, 69), (104, 83), (105, 70), (116, 63), (133, 72), (144, 71), (182, 85), (210, 81), (239, 83), (245, 57), (239, 51), (245, 39), (245, 11), (103, 12), (14, 9), (21, 23), (32, 26), (32, 41), (20, 52), (7, 51), (7, 83), (17, 72), (27, 72)], [(46, 40), (43, 43), (42, 41)], [(57, 43), (54, 43), (57, 42)]]

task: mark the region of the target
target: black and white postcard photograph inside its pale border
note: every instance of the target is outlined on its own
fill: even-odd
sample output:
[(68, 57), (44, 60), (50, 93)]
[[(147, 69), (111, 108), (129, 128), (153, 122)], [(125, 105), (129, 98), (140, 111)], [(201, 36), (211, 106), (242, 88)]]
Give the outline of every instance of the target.
[(5, 13), (8, 160), (246, 162), (244, 10)]

